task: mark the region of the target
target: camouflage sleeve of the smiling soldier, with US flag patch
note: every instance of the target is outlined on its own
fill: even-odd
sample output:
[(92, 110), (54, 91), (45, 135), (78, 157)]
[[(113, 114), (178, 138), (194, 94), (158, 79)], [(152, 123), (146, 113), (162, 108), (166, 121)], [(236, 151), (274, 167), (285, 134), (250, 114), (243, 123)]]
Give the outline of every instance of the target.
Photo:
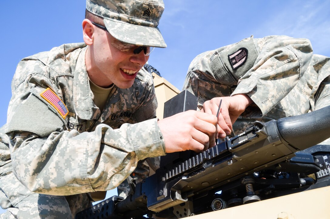
[(7, 121), (13, 172), (32, 192), (72, 195), (110, 190), (139, 160), (165, 154), (157, 119), (119, 129), (100, 124), (92, 132), (65, 130), (63, 120), (38, 97), (45, 88), (35, 82), (46, 79), (36, 77), (14, 86)]

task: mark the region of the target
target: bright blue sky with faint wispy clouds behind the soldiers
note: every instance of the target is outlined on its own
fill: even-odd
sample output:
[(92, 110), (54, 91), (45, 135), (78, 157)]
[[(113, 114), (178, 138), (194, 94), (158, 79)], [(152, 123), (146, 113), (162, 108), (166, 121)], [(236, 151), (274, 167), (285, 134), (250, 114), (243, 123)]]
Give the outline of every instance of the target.
[[(254, 35), (288, 35), (311, 40), (314, 53), (330, 56), (330, 0), (164, 0), (159, 28), (167, 43), (149, 64), (182, 89), (187, 68), (198, 54)], [(11, 80), (20, 59), (64, 43), (82, 42), (84, 0), (1, 1), (3, 21), (0, 80), (6, 123)], [(1, 211), (0, 211), (1, 212)]]

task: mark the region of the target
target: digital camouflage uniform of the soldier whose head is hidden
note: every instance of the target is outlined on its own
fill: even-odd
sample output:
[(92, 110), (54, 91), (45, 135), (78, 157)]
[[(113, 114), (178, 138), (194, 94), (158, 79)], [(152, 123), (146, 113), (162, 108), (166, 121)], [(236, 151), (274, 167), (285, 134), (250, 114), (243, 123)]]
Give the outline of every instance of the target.
[(255, 120), (295, 116), (330, 105), (330, 58), (313, 55), (307, 39), (267, 36), (207, 51), (191, 62), (184, 82), (198, 107), (213, 97), (253, 100), (233, 124), (235, 134)]

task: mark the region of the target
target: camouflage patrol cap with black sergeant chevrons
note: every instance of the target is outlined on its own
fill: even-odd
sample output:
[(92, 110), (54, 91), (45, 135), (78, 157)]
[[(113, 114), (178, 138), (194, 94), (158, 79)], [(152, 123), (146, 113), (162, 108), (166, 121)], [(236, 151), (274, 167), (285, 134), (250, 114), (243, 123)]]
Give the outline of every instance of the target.
[(119, 41), (166, 47), (157, 27), (164, 11), (163, 0), (86, 0), (86, 9), (104, 18), (107, 30)]

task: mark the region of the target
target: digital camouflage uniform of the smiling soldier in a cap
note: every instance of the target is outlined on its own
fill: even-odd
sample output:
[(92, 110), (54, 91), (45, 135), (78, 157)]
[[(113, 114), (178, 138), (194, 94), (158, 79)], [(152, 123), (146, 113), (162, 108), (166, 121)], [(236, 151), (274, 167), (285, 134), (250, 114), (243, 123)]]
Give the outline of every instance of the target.
[[(67, 199), (74, 200), (73, 212), (80, 211), (90, 205), (88, 196), (81, 193), (114, 189), (138, 161), (165, 154), (150, 73), (140, 70), (129, 89), (115, 86), (100, 112), (89, 87), (86, 48), (85, 44), (65, 44), (24, 58), (17, 65), (5, 127), (13, 139), (10, 153), (8, 146), (0, 145), (1, 205), (11, 207), (7, 215), (16, 215), (17, 205), (27, 202), (21, 200), (33, 197), (35, 209), (28, 206), (28, 211), (21, 209), (19, 214), (32, 218), (29, 214), (35, 210), (36, 214), (44, 211), (47, 218), (65, 218), (64, 213), (69, 212), (61, 208), (69, 206)], [(43, 98), (47, 88), (63, 102), (65, 106), (59, 105), (67, 109), (66, 116)], [(9, 143), (5, 136), (3, 142)], [(63, 197), (76, 194), (80, 195)], [(51, 217), (54, 212), (59, 216)]]

